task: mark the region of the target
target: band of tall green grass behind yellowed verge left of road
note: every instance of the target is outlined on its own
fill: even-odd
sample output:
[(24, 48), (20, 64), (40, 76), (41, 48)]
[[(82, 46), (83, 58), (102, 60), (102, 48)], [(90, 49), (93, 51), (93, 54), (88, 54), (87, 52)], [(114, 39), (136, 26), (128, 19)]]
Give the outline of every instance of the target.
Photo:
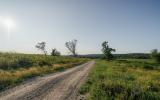
[(55, 63), (80, 62), (85, 59), (73, 57), (54, 57), (45, 55), (0, 53), (0, 69), (13, 70), (32, 66), (52, 66)]

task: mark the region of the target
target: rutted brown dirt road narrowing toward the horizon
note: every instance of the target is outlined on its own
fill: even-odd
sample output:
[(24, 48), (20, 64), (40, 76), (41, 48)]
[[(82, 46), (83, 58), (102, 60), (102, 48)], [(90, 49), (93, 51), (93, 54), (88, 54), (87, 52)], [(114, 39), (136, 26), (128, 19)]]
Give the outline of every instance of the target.
[(0, 93), (0, 100), (76, 100), (78, 88), (94, 63), (29, 80)]

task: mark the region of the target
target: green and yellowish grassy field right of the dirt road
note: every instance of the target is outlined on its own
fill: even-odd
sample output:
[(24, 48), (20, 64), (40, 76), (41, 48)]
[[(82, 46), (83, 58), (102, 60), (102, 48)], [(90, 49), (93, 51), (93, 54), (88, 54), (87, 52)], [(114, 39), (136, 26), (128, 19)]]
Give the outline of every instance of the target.
[(87, 100), (160, 100), (160, 64), (97, 60), (79, 92)]

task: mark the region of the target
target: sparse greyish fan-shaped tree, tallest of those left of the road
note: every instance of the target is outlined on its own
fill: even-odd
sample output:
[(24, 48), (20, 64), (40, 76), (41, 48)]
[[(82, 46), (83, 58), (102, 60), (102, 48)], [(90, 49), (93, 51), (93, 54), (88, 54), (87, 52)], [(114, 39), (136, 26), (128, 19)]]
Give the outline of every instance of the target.
[(65, 45), (68, 48), (68, 50), (73, 54), (74, 57), (77, 56), (77, 53), (76, 53), (77, 40), (76, 39), (66, 42)]

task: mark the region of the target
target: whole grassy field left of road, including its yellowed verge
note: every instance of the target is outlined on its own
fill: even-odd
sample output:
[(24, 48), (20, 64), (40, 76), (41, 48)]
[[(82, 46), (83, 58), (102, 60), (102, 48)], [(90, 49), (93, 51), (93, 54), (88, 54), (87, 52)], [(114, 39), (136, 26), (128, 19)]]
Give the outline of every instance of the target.
[(86, 61), (88, 59), (0, 53), (0, 91), (27, 78), (63, 71)]

